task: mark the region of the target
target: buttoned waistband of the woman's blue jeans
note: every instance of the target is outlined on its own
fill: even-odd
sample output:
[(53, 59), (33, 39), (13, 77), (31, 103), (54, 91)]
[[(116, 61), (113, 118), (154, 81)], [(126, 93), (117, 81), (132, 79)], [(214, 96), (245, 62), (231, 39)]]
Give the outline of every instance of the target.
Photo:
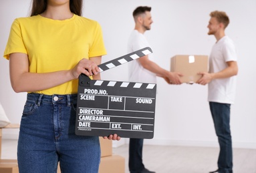
[(47, 102), (52, 104), (74, 104), (78, 101), (78, 94), (38, 94), (38, 93), (28, 93), (27, 100), (33, 100), (36, 102), (37, 106), (40, 106), (41, 103)]

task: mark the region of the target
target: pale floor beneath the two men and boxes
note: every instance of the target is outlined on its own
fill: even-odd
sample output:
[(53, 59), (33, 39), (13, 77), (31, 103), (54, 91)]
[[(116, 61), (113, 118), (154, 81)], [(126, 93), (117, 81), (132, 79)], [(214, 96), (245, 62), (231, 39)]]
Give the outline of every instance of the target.
[[(2, 158), (16, 159), (17, 140), (2, 140)], [(143, 160), (146, 168), (157, 173), (207, 173), (217, 168), (219, 148), (192, 146), (144, 145)], [(128, 171), (128, 145), (113, 148), (113, 154), (126, 160)], [(233, 172), (256, 173), (256, 150), (233, 149)], [(110, 173), (110, 172), (106, 172)]]

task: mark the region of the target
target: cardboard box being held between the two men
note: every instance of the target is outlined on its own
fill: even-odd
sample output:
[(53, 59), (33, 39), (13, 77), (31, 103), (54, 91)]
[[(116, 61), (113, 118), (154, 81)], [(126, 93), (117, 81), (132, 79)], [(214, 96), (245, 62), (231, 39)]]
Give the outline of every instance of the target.
[(175, 55), (170, 59), (170, 71), (180, 72), (182, 83), (196, 83), (202, 76), (199, 72), (208, 72), (207, 55)]

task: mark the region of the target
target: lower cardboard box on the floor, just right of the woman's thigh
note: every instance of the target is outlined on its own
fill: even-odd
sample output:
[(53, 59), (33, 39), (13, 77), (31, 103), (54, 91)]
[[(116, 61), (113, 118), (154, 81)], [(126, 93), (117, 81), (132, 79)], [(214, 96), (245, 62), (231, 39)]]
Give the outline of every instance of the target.
[(122, 156), (112, 155), (100, 159), (99, 173), (124, 173), (125, 160)]

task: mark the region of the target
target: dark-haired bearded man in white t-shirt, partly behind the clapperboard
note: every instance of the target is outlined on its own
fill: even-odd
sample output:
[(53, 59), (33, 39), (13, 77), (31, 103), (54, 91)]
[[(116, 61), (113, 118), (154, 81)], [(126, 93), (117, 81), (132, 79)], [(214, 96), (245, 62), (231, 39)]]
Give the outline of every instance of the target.
[[(128, 41), (128, 53), (138, 51), (144, 47), (150, 47), (144, 32), (150, 30), (152, 17), (151, 7), (137, 7), (133, 12), (135, 29), (130, 35)], [(153, 54), (146, 55), (128, 63), (129, 80), (140, 83), (156, 83), (156, 77), (162, 77), (168, 84), (181, 84), (180, 73), (171, 73), (159, 67), (152, 61)], [(129, 170), (131, 173), (149, 173), (152, 171), (146, 169), (142, 162), (143, 139), (130, 138), (129, 148)]]

